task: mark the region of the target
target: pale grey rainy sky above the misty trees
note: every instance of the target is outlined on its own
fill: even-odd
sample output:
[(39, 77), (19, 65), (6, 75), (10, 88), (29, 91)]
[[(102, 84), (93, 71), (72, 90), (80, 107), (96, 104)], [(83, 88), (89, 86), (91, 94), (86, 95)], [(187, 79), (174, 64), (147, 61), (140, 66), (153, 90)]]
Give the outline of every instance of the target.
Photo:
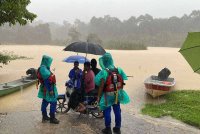
[(76, 18), (89, 22), (93, 16), (104, 15), (124, 20), (146, 13), (166, 18), (200, 10), (200, 0), (31, 0), (28, 9), (38, 15), (36, 20), (58, 23)]

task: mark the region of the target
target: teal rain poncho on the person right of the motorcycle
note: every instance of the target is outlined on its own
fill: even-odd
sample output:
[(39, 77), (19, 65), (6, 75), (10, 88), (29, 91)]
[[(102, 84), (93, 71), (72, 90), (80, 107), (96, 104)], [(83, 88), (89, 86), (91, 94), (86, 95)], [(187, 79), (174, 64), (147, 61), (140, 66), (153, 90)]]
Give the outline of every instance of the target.
[[(106, 82), (107, 77), (108, 77), (108, 72), (106, 69), (110, 69), (110, 70), (115, 69), (113, 59), (110, 53), (105, 53), (102, 57), (100, 57), (99, 64), (102, 70), (95, 77), (95, 84), (97, 86), (100, 86), (100, 82), (102, 78)], [(127, 76), (124, 73), (124, 71), (121, 68), (117, 68), (117, 69), (118, 69), (118, 73), (122, 76), (123, 80), (127, 80)], [(105, 103), (106, 101), (105, 101), (104, 95), (105, 93), (103, 91), (101, 100), (99, 102), (99, 106), (101, 110), (105, 110), (107, 107), (115, 104), (115, 95), (106, 95), (107, 105)], [(121, 104), (127, 104), (130, 102), (129, 96), (123, 89), (118, 90), (118, 102)]]

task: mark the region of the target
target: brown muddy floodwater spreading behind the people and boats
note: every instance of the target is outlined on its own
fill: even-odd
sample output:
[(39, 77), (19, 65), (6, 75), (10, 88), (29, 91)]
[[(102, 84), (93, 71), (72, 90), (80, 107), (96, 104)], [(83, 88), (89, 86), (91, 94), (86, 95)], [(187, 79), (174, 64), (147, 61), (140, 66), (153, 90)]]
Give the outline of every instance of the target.
[[(11, 61), (8, 65), (0, 69), (0, 83), (15, 80), (25, 75), (28, 68), (37, 68), (43, 54), (53, 57), (52, 69), (57, 76), (57, 87), (59, 93), (65, 92), (64, 83), (68, 79), (69, 70), (73, 67), (70, 63), (64, 63), (62, 60), (70, 55), (76, 55), (74, 52), (62, 51), (64, 47), (48, 45), (1, 45), (0, 50), (13, 51), (17, 55), (27, 56), (28, 60)], [(125, 90), (131, 97), (131, 103), (122, 106), (123, 110), (137, 114), (145, 102), (157, 102), (145, 94), (143, 81), (149, 75), (155, 74), (168, 67), (176, 80), (175, 89), (200, 89), (200, 76), (193, 73), (185, 59), (178, 53), (177, 48), (149, 48), (141, 51), (108, 51), (113, 55), (116, 67), (121, 67), (131, 75), (126, 81)], [(84, 54), (81, 54), (84, 55)], [(88, 55), (88, 58), (99, 56)], [(83, 65), (80, 65), (83, 68)], [(188, 79), (189, 78), (189, 79)], [(0, 112), (9, 111), (34, 111), (40, 107), (40, 101), (37, 97), (35, 85), (28, 87), (20, 92), (7, 95), (0, 98)]]

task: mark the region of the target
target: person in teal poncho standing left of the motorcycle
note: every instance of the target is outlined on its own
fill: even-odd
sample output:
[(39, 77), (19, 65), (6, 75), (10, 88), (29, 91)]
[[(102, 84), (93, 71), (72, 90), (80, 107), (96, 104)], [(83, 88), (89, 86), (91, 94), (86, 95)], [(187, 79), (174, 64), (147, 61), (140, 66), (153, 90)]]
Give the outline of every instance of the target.
[[(59, 120), (55, 118), (58, 92), (55, 75), (50, 71), (52, 61), (53, 59), (50, 56), (43, 55), (41, 65), (37, 72), (40, 83), (38, 97), (42, 99), (42, 121), (45, 122), (50, 120), (50, 123), (59, 124)], [(50, 118), (47, 116), (47, 106), (49, 103)]]

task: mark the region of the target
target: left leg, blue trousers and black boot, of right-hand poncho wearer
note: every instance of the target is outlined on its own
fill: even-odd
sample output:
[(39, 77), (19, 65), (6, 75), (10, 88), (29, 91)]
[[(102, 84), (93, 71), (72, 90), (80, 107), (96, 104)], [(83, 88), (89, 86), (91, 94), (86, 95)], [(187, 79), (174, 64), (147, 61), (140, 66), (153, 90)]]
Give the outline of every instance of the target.
[(111, 107), (106, 108), (103, 111), (105, 126), (106, 128), (102, 130), (104, 134), (112, 134), (111, 131)]

